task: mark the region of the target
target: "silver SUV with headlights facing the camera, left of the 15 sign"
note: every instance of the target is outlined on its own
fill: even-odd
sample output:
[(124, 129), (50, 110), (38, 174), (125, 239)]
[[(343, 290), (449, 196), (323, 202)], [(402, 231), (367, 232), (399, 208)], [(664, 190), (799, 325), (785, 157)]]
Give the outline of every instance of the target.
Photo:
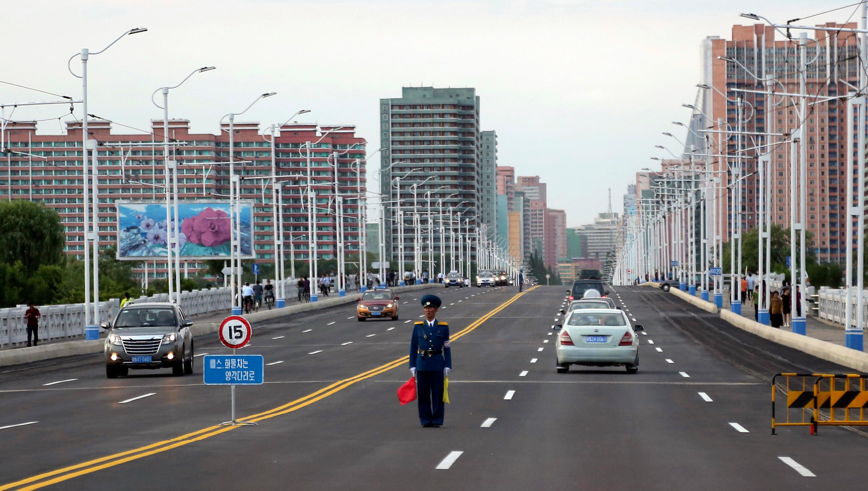
[(193, 373), (193, 321), (175, 304), (128, 304), (118, 311), (105, 342), (106, 376), (129, 369), (171, 368), (175, 376)]

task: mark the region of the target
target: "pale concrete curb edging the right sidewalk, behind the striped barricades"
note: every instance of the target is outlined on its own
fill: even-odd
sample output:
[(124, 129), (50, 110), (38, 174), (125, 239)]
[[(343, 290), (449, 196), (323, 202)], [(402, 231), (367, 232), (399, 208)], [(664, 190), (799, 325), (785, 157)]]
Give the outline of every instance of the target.
[(820, 341), (819, 339), (802, 336), (791, 331), (781, 331), (766, 324), (759, 324), (749, 318), (743, 318), (728, 310), (720, 311), (720, 318), (739, 329), (751, 332), (774, 343), (803, 351), (827, 362), (838, 363), (839, 365), (844, 365), (863, 373), (868, 372), (868, 353), (863, 351), (851, 350), (838, 344)]

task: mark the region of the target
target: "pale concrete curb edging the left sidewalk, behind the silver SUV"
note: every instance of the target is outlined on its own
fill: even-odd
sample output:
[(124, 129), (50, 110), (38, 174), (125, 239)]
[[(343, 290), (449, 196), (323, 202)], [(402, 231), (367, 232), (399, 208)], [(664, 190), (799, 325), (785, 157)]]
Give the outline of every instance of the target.
[[(443, 288), (443, 285), (428, 284), (397, 286), (395, 288), (391, 288), (391, 291), (400, 293), (403, 291), (409, 292), (435, 288)], [(359, 293), (355, 293), (348, 294), (346, 297), (326, 298), (325, 300), (319, 300), (318, 302), (310, 304), (292, 305), (290, 307), (285, 307), (283, 309), (273, 309), (271, 311), (260, 311), (253, 314), (247, 314), (243, 317), (252, 323), (261, 322), (264, 320), (271, 320), (274, 318), (283, 318), (301, 312), (319, 311), (320, 309), (327, 309), (329, 307), (334, 307), (337, 305), (352, 304), (356, 301), (358, 295)], [(194, 319), (194, 324), (190, 327), (190, 331), (193, 331), (193, 336), (197, 337), (211, 334), (212, 332), (217, 332), (219, 328), (220, 323), (209, 322), (197, 324)], [(11, 350), (2, 350), (0, 351), (0, 367), (21, 363), (38, 362), (42, 360), (49, 360), (52, 358), (73, 357), (76, 355), (100, 353), (102, 352), (104, 343), (104, 339), (100, 339), (98, 341), (68, 341), (66, 343), (44, 344), (43, 346), (32, 346), (30, 348), (15, 348)]]

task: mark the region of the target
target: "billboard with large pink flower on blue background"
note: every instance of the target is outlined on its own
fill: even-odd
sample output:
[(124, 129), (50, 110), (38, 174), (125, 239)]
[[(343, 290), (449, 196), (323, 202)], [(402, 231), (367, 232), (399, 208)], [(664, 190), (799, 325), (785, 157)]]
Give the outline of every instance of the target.
[[(174, 222), (166, 223), (165, 201), (116, 201), (117, 259), (165, 259)], [(241, 258), (253, 259), (253, 201), (238, 201)], [(229, 202), (192, 200), (178, 203), (181, 259), (229, 257)], [(173, 252), (174, 255), (174, 252)]]

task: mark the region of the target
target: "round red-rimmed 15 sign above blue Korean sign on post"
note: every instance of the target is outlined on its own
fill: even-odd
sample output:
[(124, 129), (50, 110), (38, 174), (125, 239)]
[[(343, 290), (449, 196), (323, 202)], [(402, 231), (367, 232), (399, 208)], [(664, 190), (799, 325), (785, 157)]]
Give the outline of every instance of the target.
[(235, 419), (235, 385), (261, 384), (265, 379), (262, 355), (236, 355), (235, 350), (247, 346), (253, 330), (246, 318), (229, 316), (220, 323), (220, 343), (232, 348), (232, 355), (206, 355), (202, 363), (202, 378), (206, 385), (232, 386), (232, 421), (220, 426), (256, 426), (255, 422)]

